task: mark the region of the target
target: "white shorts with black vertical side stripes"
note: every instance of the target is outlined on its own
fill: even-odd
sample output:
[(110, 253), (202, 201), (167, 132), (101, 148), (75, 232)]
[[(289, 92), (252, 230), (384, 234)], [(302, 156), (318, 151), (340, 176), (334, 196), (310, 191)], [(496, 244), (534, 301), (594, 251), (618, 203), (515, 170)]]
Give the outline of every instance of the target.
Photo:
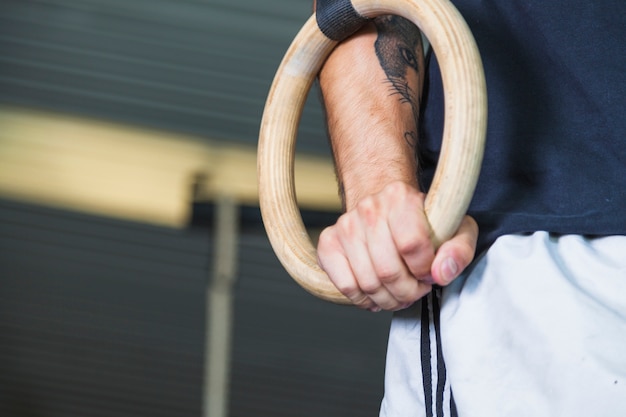
[(626, 416), (626, 236), (503, 236), (396, 313), (380, 415)]

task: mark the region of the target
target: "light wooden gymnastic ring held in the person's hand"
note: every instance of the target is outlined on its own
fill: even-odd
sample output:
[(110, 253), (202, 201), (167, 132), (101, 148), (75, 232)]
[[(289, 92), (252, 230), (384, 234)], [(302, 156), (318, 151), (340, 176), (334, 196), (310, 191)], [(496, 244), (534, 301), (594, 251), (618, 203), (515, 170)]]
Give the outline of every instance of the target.
[[(478, 48), (448, 0), (352, 0), (361, 16), (411, 20), (428, 38), (441, 68), (445, 119), (441, 155), (425, 211), (438, 247), (458, 229), (476, 187), (485, 144), (487, 94)], [(324, 60), (337, 45), (315, 16), (296, 35), (276, 72), (259, 134), (257, 173), (265, 229), (278, 259), (311, 294), (350, 304), (317, 264), (296, 203), (295, 142), (300, 116)]]

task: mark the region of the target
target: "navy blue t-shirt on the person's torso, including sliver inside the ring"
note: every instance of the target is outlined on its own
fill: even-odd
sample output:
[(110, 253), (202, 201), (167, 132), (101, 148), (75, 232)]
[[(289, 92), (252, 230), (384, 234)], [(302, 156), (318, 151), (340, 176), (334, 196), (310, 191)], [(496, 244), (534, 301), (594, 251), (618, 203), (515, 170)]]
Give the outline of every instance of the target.
[[(454, 3), (488, 89), (485, 158), (469, 210), (479, 249), (507, 233), (626, 234), (626, 1)], [(425, 88), (427, 185), (443, 127), (434, 56)]]

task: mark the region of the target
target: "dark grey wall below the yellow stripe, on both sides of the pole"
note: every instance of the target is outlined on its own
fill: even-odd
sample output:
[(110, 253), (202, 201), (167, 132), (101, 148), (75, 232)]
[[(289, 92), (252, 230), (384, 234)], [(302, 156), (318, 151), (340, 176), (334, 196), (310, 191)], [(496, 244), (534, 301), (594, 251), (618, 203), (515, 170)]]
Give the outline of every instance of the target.
[[(0, 415), (200, 415), (211, 253), (207, 227), (0, 200)], [(230, 414), (376, 415), (388, 320), (311, 297), (246, 224)]]

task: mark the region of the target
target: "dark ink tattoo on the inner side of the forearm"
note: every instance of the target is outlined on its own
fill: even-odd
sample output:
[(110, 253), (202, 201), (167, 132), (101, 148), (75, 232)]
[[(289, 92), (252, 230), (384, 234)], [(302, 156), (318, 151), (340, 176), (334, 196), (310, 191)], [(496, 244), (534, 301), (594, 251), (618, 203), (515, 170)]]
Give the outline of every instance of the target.
[(419, 80), (423, 66), (422, 37), (419, 29), (400, 16), (380, 16), (374, 19), (378, 38), (374, 44), (376, 56), (387, 75), (391, 94), (411, 106), (414, 130), (405, 132), (404, 139), (415, 149), (419, 119)]

